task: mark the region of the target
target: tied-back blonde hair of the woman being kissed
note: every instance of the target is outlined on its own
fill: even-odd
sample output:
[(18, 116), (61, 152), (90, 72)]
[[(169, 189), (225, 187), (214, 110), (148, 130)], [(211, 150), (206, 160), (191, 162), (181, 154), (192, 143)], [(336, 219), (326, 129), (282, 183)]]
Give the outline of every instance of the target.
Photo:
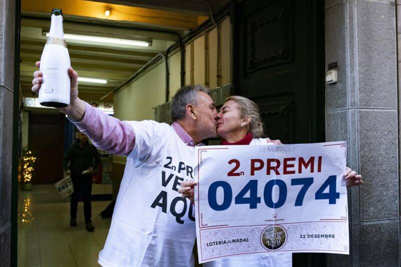
[(254, 138), (260, 138), (264, 135), (263, 133), (263, 123), (259, 114), (258, 105), (242, 96), (231, 96), (226, 99), (226, 102), (232, 100), (235, 101), (240, 106), (241, 119), (250, 117), (251, 121), (248, 124), (248, 133), (252, 133)]

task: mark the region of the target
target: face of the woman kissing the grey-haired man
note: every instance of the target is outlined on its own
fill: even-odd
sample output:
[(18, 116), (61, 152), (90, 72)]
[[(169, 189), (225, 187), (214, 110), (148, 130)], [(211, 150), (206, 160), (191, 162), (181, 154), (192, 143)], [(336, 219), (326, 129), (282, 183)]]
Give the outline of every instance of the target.
[(233, 100), (224, 103), (220, 112), (217, 114), (217, 118), (216, 131), (217, 134), (223, 138), (228, 133), (231, 134), (242, 130), (241, 122), (244, 120), (241, 119), (240, 105)]

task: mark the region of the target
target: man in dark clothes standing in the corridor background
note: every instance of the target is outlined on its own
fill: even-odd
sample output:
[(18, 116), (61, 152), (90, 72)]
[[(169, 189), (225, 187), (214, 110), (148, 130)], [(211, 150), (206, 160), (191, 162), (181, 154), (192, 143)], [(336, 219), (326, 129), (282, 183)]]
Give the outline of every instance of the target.
[(64, 156), (64, 170), (71, 175), (74, 192), (71, 195), (70, 225), (77, 226), (77, 209), (80, 196), (84, 201), (84, 216), (86, 230), (93, 232), (92, 224), (92, 174), (100, 163), (100, 157), (95, 146), (88, 142), (88, 137), (78, 132), (79, 142), (72, 144)]

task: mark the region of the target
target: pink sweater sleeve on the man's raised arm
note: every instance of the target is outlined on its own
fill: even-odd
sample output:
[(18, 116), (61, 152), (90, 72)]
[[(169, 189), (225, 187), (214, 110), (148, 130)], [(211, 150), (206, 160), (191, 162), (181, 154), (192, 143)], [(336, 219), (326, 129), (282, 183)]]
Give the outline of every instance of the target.
[(111, 117), (85, 102), (84, 118), (73, 123), (92, 143), (111, 154), (128, 155), (134, 148), (135, 132), (129, 123)]

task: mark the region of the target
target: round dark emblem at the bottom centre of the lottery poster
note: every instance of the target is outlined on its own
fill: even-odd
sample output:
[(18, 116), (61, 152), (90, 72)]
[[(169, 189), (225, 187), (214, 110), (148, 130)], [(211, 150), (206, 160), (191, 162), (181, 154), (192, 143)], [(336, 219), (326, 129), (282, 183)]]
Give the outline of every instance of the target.
[(260, 235), (262, 246), (268, 251), (280, 250), (287, 242), (287, 230), (281, 225), (269, 225)]

